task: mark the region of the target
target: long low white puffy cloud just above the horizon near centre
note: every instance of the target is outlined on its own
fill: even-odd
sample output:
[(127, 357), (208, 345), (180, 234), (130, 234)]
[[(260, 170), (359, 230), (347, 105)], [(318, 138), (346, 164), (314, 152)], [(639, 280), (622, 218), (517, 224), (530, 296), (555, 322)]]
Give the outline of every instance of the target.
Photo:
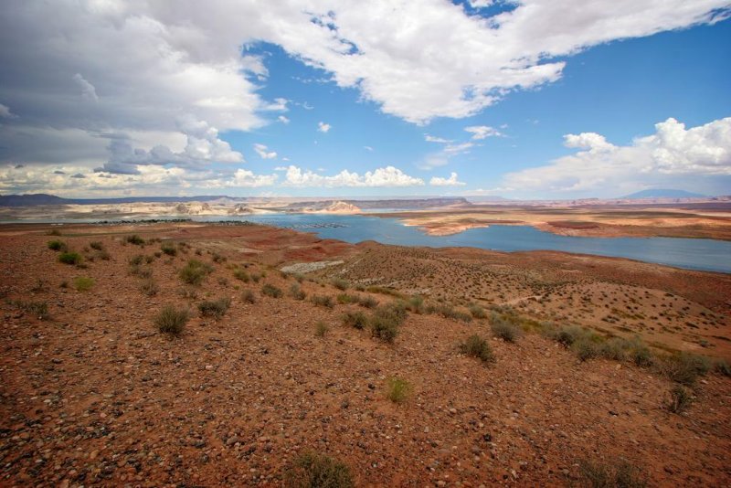
[(320, 186), (320, 187), (364, 187), (364, 186), (422, 186), (424, 180), (406, 175), (394, 166), (377, 168), (374, 171), (358, 175), (343, 170), (337, 175), (323, 176), (312, 171), (302, 171), (301, 168), (291, 165), (287, 168), (286, 180), (288, 186)]

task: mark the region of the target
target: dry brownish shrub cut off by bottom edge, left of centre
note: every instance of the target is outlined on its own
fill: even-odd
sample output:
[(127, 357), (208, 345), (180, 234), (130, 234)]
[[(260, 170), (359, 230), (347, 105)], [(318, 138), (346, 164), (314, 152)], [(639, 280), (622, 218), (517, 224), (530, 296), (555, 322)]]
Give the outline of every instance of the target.
[(314, 452), (297, 456), (285, 472), (284, 481), (288, 488), (352, 488), (355, 485), (346, 464)]

